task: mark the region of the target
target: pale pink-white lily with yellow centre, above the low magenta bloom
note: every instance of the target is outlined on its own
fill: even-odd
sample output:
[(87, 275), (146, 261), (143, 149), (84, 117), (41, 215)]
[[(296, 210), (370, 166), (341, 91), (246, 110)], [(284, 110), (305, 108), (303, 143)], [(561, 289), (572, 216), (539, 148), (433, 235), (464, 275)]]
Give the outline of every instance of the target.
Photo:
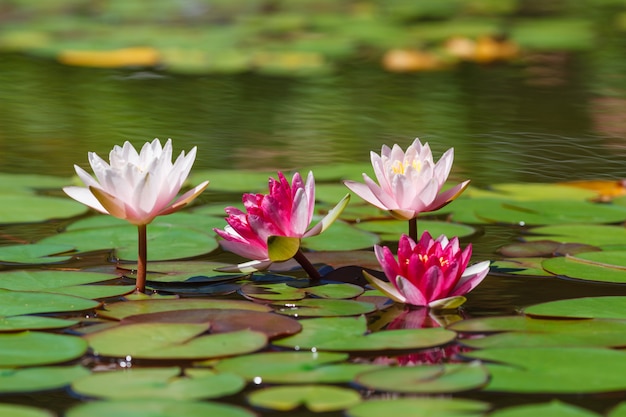
[(454, 150), (449, 149), (437, 163), (428, 143), (415, 139), (406, 152), (400, 146), (383, 145), (380, 155), (371, 152), (378, 184), (363, 174), (365, 184), (345, 181), (345, 185), (368, 203), (389, 211), (394, 217), (410, 220), (419, 213), (435, 211), (458, 197), (469, 184), (465, 181), (441, 191), (448, 179)]

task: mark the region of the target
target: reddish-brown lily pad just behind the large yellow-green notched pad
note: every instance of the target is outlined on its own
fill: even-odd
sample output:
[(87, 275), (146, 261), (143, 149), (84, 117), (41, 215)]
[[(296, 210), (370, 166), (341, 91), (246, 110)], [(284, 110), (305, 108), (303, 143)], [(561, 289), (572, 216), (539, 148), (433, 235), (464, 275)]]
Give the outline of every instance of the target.
[(137, 314), (121, 321), (121, 324), (133, 323), (210, 323), (212, 333), (250, 329), (264, 333), (269, 339), (289, 336), (302, 329), (300, 322), (280, 314), (221, 308)]

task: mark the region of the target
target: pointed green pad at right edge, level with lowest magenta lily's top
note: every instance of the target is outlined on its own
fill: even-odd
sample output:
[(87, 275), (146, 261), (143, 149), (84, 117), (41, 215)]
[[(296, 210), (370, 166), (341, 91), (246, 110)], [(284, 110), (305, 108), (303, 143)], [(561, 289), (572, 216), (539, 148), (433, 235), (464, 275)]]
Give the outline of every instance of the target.
[(554, 275), (597, 282), (626, 283), (626, 251), (579, 253), (546, 259), (543, 268)]

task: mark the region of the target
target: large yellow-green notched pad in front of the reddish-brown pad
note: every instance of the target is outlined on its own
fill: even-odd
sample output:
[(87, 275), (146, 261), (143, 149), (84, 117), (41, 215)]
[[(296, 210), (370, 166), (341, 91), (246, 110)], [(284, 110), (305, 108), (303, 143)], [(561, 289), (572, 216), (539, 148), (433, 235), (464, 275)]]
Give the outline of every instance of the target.
[(267, 337), (252, 330), (202, 335), (206, 323), (137, 323), (85, 336), (94, 353), (139, 359), (200, 360), (240, 355), (263, 348)]

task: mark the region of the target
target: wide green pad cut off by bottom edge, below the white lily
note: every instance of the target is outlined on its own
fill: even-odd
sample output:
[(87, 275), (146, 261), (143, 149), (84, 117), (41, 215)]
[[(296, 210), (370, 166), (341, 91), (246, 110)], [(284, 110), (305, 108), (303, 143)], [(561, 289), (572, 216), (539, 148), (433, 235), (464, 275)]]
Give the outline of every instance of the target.
[(228, 404), (208, 401), (179, 401), (153, 398), (150, 401), (110, 400), (91, 401), (70, 408), (65, 417), (255, 417), (256, 414)]

